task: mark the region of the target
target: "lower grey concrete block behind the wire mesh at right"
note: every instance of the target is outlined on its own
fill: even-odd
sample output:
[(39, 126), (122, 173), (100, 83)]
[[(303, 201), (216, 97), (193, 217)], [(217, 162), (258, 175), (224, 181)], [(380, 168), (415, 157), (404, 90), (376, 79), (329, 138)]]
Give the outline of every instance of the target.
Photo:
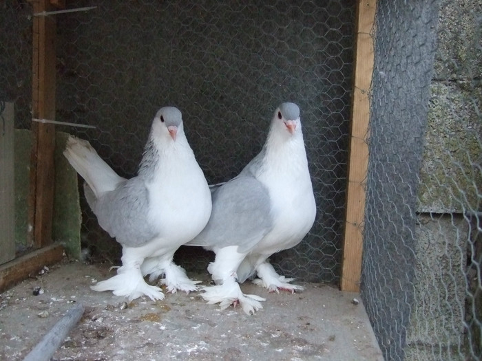
[(406, 360), (461, 360), (468, 228), (461, 215), (419, 215)]

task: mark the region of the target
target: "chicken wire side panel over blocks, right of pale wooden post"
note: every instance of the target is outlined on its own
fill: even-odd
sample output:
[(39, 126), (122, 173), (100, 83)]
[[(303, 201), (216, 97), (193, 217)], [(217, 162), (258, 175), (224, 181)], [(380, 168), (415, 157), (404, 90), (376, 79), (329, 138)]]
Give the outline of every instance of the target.
[(386, 360), (480, 360), (480, 1), (378, 1), (362, 298)]

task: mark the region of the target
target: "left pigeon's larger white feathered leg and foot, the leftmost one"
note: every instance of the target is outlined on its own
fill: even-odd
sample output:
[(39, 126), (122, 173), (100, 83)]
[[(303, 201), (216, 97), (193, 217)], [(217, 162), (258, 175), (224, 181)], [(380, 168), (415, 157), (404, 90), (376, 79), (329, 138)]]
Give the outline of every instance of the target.
[(129, 300), (144, 295), (151, 300), (163, 300), (164, 294), (161, 289), (144, 281), (140, 272), (140, 264), (143, 263), (144, 257), (138, 254), (138, 249), (124, 247), (122, 253), (122, 266), (117, 269), (116, 276), (98, 282), (90, 288), (98, 292), (112, 291), (116, 296), (126, 296)]

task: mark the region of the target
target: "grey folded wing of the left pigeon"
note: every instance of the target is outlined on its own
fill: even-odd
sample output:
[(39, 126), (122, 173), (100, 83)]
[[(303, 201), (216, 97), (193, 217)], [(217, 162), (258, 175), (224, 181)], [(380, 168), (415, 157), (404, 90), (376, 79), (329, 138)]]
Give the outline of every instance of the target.
[(149, 191), (134, 177), (97, 199), (92, 210), (111, 237), (127, 247), (140, 247), (159, 234), (147, 220), (149, 206)]

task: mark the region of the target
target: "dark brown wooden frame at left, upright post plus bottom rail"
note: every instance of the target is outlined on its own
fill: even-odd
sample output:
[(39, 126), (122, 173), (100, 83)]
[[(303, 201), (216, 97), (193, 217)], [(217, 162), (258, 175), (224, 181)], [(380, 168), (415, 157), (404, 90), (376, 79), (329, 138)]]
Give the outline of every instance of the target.
[[(51, 10), (51, 3), (61, 6), (63, 1), (32, 1), (34, 14)], [(34, 16), (32, 116), (36, 119), (55, 117), (55, 36), (54, 17)], [(63, 258), (63, 245), (52, 244), (55, 127), (32, 122), (31, 131), (27, 240), (29, 246), (40, 249), (0, 265), (0, 292)]]

